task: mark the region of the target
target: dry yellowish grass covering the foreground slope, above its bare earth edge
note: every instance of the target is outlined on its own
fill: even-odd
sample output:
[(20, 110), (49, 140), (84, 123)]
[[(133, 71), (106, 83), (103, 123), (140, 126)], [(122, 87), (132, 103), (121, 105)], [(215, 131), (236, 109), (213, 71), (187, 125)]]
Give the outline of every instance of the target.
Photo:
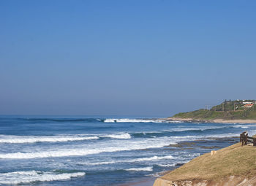
[(256, 174), (256, 147), (233, 144), (217, 151), (217, 155), (206, 153), (180, 168), (165, 174), (163, 179), (217, 180), (227, 176), (251, 177)]

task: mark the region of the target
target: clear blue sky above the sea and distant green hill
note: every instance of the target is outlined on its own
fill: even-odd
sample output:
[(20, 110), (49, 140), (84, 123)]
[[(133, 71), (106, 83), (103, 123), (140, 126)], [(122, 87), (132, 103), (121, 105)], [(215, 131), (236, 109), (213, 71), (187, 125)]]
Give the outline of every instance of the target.
[(256, 1), (0, 1), (1, 115), (173, 115), (256, 98)]

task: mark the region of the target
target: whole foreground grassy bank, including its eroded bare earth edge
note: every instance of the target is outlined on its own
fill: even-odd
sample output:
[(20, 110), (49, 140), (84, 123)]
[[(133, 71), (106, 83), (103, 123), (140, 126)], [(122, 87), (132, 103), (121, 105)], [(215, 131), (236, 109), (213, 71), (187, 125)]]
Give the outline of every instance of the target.
[(233, 144), (215, 155), (206, 153), (157, 179), (167, 185), (255, 185), (256, 147)]

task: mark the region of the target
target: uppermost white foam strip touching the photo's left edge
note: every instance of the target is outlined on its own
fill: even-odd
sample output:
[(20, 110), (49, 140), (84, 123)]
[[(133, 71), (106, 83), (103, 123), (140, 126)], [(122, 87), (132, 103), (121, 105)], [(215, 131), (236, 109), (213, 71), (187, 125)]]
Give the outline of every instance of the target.
[(99, 139), (98, 136), (9, 136), (1, 135), (0, 143), (69, 142)]

